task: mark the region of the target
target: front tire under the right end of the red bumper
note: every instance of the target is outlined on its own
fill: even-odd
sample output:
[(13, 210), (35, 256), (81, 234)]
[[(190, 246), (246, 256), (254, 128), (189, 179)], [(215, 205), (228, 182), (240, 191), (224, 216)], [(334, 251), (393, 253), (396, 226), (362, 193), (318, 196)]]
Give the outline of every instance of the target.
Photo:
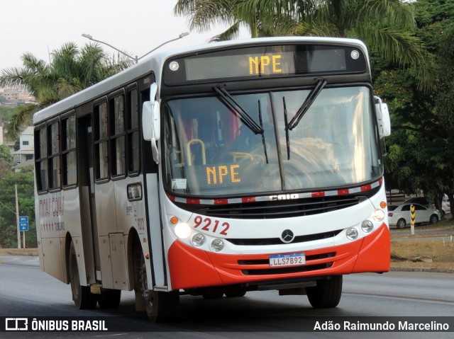
[(329, 309), (336, 307), (341, 301), (342, 275), (317, 280), (317, 286), (306, 287), (307, 298), (314, 309)]

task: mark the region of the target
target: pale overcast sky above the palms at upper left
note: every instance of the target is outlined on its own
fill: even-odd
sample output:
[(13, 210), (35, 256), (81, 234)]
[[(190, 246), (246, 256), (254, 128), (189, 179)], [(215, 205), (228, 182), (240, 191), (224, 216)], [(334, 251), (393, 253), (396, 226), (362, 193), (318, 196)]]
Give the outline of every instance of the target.
[[(49, 62), (52, 50), (66, 42), (82, 47), (91, 42), (82, 33), (118, 50), (141, 57), (163, 42), (189, 32), (187, 17), (175, 16), (177, 0), (0, 0), (0, 70), (22, 67), (31, 52)], [(225, 27), (196, 31), (161, 50), (204, 44)], [(248, 38), (241, 33), (240, 38)], [(109, 54), (116, 53), (101, 45)]]

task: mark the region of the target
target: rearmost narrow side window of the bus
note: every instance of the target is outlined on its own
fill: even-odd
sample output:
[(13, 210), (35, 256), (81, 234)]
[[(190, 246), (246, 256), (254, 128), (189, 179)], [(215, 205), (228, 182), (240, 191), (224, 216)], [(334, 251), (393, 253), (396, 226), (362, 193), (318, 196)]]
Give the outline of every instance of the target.
[(48, 130), (35, 130), (35, 175), (38, 192), (48, 190)]

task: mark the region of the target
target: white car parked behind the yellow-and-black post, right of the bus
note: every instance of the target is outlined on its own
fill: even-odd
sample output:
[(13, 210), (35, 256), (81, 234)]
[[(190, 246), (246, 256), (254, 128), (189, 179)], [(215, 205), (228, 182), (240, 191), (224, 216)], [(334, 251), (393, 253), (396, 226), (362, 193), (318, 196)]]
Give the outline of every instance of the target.
[(410, 225), (411, 205), (414, 205), (415, 224), (421, 224), (423, 222), (435, 224), (441, 219), (441, 214), (438, 209), (428, 208), (419, 204), (402, 204), (388, 206), (389, 225), (396, 226), (398, 229), (403, 229), (406, 225)]

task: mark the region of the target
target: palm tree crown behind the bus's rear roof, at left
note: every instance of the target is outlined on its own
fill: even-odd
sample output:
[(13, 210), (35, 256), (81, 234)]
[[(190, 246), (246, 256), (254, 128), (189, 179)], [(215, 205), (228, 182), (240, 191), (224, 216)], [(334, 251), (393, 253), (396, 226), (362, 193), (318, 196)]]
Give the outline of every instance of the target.
[(88, 44), (79, 50), (73, 42), (68, 42), (60, 50), (52, 51), (50, 56), (51, 62), (46, 64), (31, 53), (24, 53), (21, 57), (23, 67), (0, 72), (0, 86), (26, 88), (38, 101), (36, 104), (21, 105), (15, 110), (8, 122), (11, 139), (16, 139), (36, 111), (96, 84), (133, 63), (126, 58), (112, 62), (97, 44)]

